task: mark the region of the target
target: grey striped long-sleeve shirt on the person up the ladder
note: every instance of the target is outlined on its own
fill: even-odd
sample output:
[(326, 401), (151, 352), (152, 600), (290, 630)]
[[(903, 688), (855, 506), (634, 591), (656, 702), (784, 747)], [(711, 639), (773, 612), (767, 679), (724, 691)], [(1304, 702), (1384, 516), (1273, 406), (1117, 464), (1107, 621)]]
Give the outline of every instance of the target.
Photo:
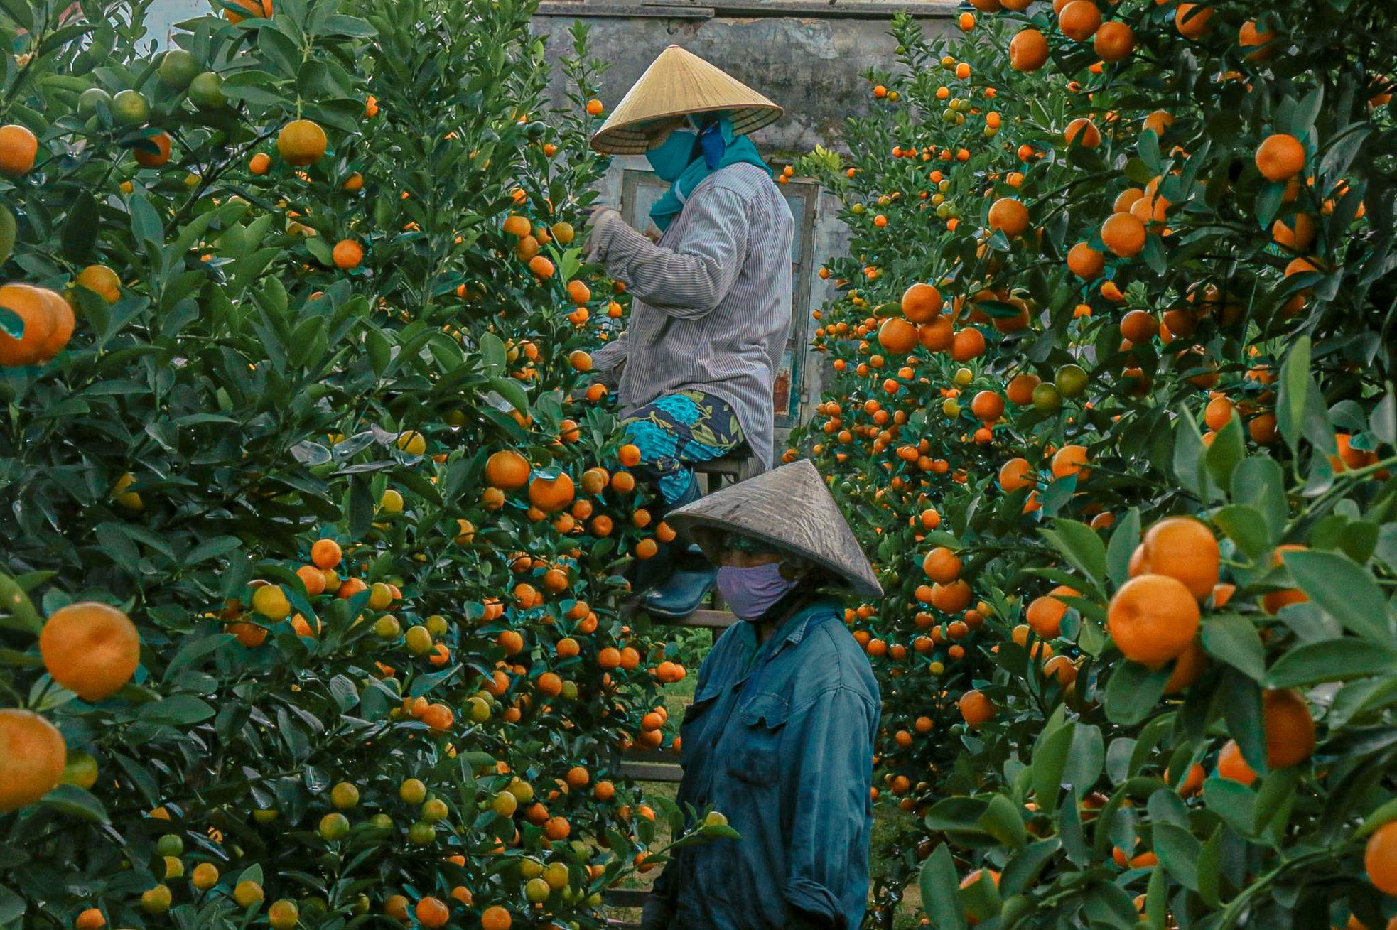
[(626, 332), (592, 355), (604, 381), (620, 367), (623, 416), (662, 394), (704, 391), (732, 405), (771, 468), (793, 232), (770, 175), (746, 163), (704, 179), (658, 243), (620, 221), (592, 230), (606, 271), (633, 296)]

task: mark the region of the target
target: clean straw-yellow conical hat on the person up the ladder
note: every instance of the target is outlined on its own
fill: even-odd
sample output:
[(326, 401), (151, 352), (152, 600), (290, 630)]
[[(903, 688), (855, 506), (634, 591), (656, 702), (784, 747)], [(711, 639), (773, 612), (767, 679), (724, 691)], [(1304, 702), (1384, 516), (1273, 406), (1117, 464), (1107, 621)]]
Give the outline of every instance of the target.
[(641, 155), (650, 147), (638, 124), (685, 113), (726, 110), (738, 135), (781, 119), (781, 108), (693, 52), (672, 45), (659, 53), (592, 135), (608, 155)]

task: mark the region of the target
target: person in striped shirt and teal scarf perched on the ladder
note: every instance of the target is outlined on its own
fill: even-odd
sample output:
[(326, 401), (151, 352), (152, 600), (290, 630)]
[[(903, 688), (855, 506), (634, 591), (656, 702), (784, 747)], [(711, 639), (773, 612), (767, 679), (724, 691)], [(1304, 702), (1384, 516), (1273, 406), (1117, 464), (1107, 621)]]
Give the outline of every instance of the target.
[[(605, 154), (644, 154), (669, 190), (650, 211), (657, 242), (615, 209), (588, 223), (588, 261), (631, 295), (626, 332), (592, 356), (616, 391), (654, 517), (698, 500), (690, 465), (746, 445), (771, 468), (773, 385), (791, 330), (795, 221), (747, 133), (781, 108), (703, 59), (669, 46), (592, 137)], [(682, 536), (637, 566), (640, 606), (692, 613), (715, 570)]]

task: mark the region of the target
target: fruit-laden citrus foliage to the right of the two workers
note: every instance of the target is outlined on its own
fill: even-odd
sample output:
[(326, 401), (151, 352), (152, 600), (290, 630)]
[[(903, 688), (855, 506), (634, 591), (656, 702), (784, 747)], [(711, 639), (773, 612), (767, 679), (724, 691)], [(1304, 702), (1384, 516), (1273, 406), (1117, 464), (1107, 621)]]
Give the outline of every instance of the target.
[(887, 591), (870, 920), (1397, 926), (1397, 20), (974, 7), (798, 165), (854, 230), (788, 458)]

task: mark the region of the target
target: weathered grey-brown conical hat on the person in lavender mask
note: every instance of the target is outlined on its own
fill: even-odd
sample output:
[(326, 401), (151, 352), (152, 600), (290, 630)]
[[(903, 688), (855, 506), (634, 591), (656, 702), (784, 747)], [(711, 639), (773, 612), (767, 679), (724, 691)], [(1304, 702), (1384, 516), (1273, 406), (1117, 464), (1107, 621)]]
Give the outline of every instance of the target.
[[(672, 511), (665, 522), (703, 542), (710, 554), (712, 540), (701, 531), (739, 533), (805, 556), (868, 598), (883, 596), (859, 540), (809, 459), (700, 497)], [(700, 532), (690, 532), (694, 529)]]

